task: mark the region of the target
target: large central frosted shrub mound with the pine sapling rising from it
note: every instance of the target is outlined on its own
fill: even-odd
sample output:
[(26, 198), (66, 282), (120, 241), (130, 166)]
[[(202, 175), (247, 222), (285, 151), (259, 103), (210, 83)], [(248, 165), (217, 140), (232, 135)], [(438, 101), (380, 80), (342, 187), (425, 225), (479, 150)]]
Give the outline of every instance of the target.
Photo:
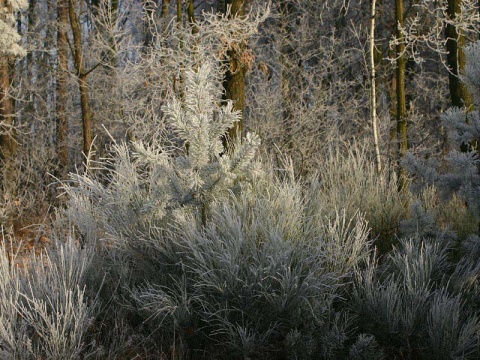
[[(369, 256), (367, 222), (353, 206), (319, 211), (318, 181), (253, 161), (255, 136), (224, 149), (238, 114), (216, 104), (208, 65), (186, 89), (164, 108), (180, 148), (115, 145), (65, 185), (84, 242), (106, 240), (125, 323), (150, 353), (347, 356), (352, 320), (338, 304)], [(375, 347), (358, 341), (355, 354)]]

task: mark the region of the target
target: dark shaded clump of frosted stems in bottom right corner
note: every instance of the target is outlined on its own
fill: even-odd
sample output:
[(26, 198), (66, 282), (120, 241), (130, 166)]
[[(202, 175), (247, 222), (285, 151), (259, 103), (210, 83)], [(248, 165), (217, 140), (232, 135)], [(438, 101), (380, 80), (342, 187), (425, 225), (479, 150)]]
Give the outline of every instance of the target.
[(387, 355), (478, 358), (480, 319), (468, 304), (478, 291), (466, 280), (478, 285), (478, 273), (472, 262), (450, 263), (448, 250), (438, 239), (402, 240), (357, 273), (352, 310)]

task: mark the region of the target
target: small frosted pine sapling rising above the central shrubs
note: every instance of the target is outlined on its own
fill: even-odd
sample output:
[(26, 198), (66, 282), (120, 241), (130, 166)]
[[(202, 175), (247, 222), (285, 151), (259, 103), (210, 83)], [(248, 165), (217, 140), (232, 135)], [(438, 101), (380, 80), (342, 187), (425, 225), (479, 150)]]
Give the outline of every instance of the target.
[[(224, 148), (222, 138), (240, 112), (229, 101), (216, 104), (211, 65), (201, 65), (186, 74), (185, 100), (173, 99), (164, 107), (174, 132), (185, 143), (185, 152), (175, 159), (177, 201), (200, 205), (206, 223), (208, 204), (225, 194), (237, 180), (247, 175), (260, 145), (257, 135), (248, 133), (243, 142)], [(179, 196), (179, 197), (178, 197)]]

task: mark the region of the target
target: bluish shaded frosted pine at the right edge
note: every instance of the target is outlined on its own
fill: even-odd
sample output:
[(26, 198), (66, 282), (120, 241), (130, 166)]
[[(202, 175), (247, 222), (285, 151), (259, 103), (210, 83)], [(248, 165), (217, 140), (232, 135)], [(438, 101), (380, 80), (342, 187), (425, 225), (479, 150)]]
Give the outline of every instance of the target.
[[(477, 64), (480, 59), (480, 43), (467, 46), (465, 54), (467, 65), (462, 80), (474, 95), (475, 108), (478, 109), (480, 72)], [(426, 204), (431, 208), (430, 214), (435, 218), (437, 226), (440, 229), (454, 230), (459, 239), (464, 240), (470, 235), (478, 235), (480, 221), (479, 113), (478, 110), (467, 112), (466, 109), (452, 108), (442, 118), (453, 150), (443, 159), (420, 160), (407, 154), (404, 163), (409, 172), (417, 177), (420, 193), (425, 184), (433, 185), (438, 191), (438, 206)], [(455, 206), (457, 211), (450, 211), (450, 205)]]

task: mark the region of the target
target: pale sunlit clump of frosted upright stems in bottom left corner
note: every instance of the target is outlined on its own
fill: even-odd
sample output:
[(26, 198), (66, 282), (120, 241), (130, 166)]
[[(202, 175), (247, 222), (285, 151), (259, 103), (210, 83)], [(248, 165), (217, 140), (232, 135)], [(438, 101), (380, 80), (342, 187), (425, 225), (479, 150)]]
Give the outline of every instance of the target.
[(94, 299), (87, 298), (85, 289), (92, 258), (91, 251), (69, 240), (31, 259), (18, 311), (33, 330), (30, 351), (35, 358), (81, 357), (94, 316)]

